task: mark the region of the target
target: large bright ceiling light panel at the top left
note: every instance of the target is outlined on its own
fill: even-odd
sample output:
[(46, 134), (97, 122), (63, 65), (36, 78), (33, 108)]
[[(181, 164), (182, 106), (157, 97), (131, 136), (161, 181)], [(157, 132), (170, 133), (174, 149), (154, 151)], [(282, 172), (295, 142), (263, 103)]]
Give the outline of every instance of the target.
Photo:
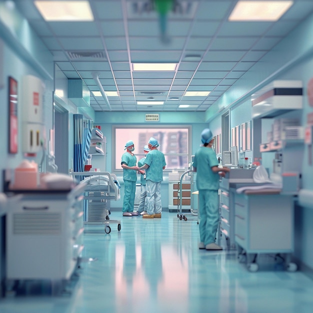
[(35, 6), (47, 21), (89, 21), (93, 14), (89, 1), (34, 1)]

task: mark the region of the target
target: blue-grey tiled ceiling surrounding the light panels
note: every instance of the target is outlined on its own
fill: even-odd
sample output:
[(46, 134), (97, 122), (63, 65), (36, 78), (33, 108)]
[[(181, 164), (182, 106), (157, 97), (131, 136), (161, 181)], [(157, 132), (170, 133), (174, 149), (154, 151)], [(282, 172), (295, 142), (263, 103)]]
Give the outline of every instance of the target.
[[(82, 77), (90, 90), (98, 91), (92, 77), (96, 71), (104, 90), (119, 91), (120, 97), (108, 97), (112, 111), (177, 111), (184, 101), (199, 102), (190, 110), (205, 111), (313, 10), (312, 0), (295, 0), (276, 22), (229, 22), (235, 2), (190, 0), (190, 6), (175, 2), (176, 11), (168, 13), (161, 36), (157, 12), (143, 7), (151, 4), (149, 0), (90, 0), (92, 22), (45, 22), (33, 0), (14, 1), (51, 51), (60, 73), (68, 79)], [(68, 52), (82, 56), (69, 60)], [(87, 52), (94, 53), (86, 56)], [(177, 62), (179, 66), (176, 72), (136, 72), (130, 62)], [(186, 100), (182, 97), (186, 89), (212, 92)], [(138, 107), (135, 97), (169, 103)], [(108, 111), (101, 97), (91, 96), (90, 103), (96, 111)]]

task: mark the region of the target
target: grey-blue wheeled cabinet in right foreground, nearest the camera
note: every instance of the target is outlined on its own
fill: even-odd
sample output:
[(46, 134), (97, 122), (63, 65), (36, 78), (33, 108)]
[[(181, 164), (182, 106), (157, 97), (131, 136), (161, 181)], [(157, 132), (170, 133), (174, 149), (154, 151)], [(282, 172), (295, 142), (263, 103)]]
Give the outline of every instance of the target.
[(235, 242), (238, 258), (250, 271), (256, 271), (259, 253), (286, 254), (281, 258), (286, 269), (296, 270), (289, 262), (293, 252), (293, 197), (283, 194), (244, 194), (234, 197)]

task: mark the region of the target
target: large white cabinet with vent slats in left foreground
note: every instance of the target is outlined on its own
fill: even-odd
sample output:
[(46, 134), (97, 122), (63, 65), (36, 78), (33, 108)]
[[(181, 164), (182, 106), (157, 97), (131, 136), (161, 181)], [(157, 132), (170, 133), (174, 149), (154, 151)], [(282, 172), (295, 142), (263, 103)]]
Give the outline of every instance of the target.
[(22, 193), (9, 201), (7, 291), (13, 291), (14, 280), (66, 281), (70, 278), (83, 249), (83, 189), (77, 187), (69, 192)]

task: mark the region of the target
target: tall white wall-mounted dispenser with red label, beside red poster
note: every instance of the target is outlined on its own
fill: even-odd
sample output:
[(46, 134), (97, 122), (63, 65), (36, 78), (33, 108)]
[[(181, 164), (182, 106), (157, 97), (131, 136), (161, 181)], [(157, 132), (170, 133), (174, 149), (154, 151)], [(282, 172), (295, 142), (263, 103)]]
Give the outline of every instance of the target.
[(40, 150), (43, 134), (43, 100), (44, 85), (32, 75), (22, 78), (22, 149), (28, 155)]

